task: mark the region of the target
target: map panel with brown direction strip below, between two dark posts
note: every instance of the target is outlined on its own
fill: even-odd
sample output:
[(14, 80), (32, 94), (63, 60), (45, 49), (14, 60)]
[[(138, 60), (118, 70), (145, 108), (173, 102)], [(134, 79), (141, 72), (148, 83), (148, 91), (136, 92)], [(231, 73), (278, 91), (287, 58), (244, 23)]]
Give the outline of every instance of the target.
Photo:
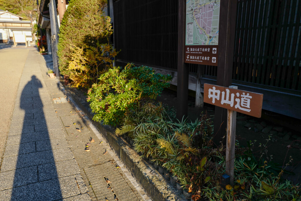
[(217, 66), (220, 0), (186, 0), (185, 63)]

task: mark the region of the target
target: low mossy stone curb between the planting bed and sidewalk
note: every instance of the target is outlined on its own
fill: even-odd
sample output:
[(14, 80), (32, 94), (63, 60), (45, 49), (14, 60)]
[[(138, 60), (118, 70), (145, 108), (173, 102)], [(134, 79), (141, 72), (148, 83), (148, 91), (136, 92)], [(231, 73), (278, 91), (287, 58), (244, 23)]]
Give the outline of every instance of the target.
[(76, 105), (86, 114), (98, 131), (103, 134), (119, 159), (126, 165), (126, 168), (132, 173), (152, 200), (185, 200), (179, 192), (173, 192), (170, 184), (166, 182), (157, 170), (147, 162), (144, 162), (143, 159), (139, 159), (137, 152), (135, 152), (128, 143), (116, 137), (115, 131), (110, 126), (102, 125), (101, 123), (92, 120), (93, 115), (88, 103), (79, 100), (78, 94), (80, 93), (76, 94), (77, 90), (75, 88), (72, 88), (75, 90), (74, 92), (70, 87), (64, 87), (58, 80), (57, 83), (65, 95), (73, 99)]

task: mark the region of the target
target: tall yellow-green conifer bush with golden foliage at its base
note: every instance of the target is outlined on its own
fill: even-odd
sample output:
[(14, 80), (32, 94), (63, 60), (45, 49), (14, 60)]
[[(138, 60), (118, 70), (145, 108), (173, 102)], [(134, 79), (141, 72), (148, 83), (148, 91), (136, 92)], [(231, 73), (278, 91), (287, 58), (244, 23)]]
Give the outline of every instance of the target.
[(57, 47), (59, 69), (75, 87), (88, 88), (113, 67), (117, 52), (109, 40), (113, 30), (106, 7), (106, 0), (71, 0), (64, 14)]

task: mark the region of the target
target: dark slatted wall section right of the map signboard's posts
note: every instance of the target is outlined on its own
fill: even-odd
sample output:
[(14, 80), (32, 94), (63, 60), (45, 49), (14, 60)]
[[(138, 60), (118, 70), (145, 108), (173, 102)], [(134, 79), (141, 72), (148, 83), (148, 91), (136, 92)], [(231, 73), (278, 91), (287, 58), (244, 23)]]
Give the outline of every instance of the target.
[(238, 0), (232, 78), (301, 90), (300, 14), (298, 0)]

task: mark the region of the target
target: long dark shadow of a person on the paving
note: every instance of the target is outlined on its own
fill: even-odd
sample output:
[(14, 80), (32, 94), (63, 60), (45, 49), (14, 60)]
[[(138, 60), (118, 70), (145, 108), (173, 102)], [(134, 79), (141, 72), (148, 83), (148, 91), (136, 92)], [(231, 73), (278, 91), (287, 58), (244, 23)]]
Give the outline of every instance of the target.
[(62, 199), (39, 88), (42, 84), (33, 75), (20, 97), (25, 117), (11, 200)]

